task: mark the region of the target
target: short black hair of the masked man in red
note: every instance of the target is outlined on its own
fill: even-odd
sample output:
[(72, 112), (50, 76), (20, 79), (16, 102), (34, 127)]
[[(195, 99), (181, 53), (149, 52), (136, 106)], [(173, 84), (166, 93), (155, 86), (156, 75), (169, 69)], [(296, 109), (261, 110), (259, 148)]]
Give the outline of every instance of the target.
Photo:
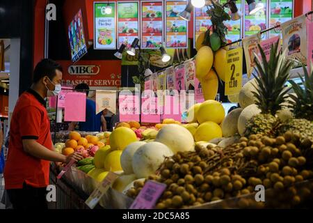
[(37, 83), (42, 77), (49, 77), (52, 81), (56, 76), (56, 70), (63, 71), (62, 66), (51, 59), (42, 59), (33, 70), (33, 83)]

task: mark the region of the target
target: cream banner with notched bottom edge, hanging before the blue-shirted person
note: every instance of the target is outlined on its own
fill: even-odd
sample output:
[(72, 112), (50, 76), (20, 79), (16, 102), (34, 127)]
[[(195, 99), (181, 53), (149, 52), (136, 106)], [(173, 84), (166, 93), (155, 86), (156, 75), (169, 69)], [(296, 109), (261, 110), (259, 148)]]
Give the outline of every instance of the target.
[(116, 91), (96, 91), (96, 114), (104, 109), (116, 113)]

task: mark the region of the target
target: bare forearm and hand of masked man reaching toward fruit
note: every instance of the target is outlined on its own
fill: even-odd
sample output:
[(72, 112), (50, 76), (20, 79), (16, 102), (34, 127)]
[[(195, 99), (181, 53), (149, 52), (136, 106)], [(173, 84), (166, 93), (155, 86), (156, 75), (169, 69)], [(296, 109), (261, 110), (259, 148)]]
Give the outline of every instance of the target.
[(26, 153), (29, 153), (29, 155), (32, 155), (42, 160), (67, 163), (70, 162), (70, 160), (72, 159), (79, 161), (83, 158), (80, 153), (72, 153), (68, 156), (56, 153), (49, 150), (45, 146), (38, 144), (35, 139), (23, 139), (22, 143), (23, 149)]

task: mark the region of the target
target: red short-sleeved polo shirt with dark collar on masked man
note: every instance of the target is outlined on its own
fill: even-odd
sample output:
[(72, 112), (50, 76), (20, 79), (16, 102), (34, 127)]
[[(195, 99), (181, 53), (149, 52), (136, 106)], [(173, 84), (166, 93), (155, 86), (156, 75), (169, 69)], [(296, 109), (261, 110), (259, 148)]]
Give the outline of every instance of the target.
[(8, 160), (4, 169), (6, 189), (18, 189), (25, 182), (33, 187), (49, 185), (49, 164), (23, 150), (22, 139), (36, 139), (52, 150), (50, 122), (45, 100), (29, 89), (17, 100), (10, 123)]

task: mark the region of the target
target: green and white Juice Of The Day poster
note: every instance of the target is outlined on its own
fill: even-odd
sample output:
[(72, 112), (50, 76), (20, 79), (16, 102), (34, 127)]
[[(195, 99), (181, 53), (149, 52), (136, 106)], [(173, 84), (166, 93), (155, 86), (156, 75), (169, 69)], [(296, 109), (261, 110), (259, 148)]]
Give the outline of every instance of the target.
[[(111, 7), (111, 13), (106, 8)], [(115, 3), (94, 3), (94, 49), (116, 49)]]

